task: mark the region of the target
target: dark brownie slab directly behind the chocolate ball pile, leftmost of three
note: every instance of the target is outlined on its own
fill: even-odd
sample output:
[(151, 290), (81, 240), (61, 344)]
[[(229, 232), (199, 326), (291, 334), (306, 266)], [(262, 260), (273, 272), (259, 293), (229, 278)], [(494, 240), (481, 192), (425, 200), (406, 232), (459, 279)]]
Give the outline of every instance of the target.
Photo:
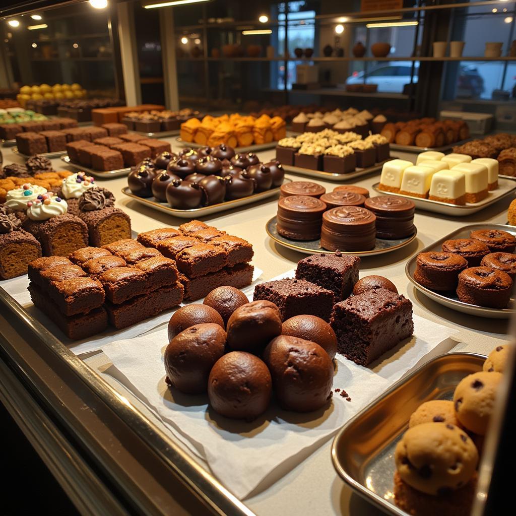
[(275, 280), (256, 285), (253, 300), (265, 299), (275, 303), (282, 320), (295, 315), (315, 315), (330, 320), (333, 292), (305, 280)]

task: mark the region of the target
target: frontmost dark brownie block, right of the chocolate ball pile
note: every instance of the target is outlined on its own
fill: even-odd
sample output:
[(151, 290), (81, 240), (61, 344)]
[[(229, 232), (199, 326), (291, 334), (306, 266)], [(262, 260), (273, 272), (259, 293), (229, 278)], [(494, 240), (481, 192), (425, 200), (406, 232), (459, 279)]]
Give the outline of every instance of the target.
[(337, 335), (337, 351), (367, 365), (412, 335), (412, 303), (375, 288), (335, 304), (330, 325)]

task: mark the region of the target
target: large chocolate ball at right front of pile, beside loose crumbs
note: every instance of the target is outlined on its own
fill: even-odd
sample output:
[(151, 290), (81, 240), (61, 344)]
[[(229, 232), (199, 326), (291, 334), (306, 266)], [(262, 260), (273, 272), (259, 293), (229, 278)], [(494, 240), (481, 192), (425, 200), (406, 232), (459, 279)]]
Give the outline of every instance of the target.
[(311, 412), (328, 404), (333, 362), (321, 346), (303, 338), (280, 335), (265, 348), (263, 360), (283, 409)]

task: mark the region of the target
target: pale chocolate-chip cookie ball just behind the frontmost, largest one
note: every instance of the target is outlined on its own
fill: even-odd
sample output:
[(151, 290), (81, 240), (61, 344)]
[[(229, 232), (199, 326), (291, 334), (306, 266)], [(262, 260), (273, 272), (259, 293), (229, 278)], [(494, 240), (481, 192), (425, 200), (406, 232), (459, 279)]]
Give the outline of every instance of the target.
[(480, 371), (463, 378), (453, 396), (455, 415), (468, 430), (485, 436), (501, 373)]

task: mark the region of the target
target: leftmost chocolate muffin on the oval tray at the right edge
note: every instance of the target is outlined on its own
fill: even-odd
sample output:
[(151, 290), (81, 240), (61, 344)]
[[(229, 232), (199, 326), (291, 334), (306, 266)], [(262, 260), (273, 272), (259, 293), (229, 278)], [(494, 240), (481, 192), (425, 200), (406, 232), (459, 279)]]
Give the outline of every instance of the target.
[(434, 291), (454, 291), (459, 272), (469, 267), (463, 256), (430, 251), (416, 257), (414, 279)]

